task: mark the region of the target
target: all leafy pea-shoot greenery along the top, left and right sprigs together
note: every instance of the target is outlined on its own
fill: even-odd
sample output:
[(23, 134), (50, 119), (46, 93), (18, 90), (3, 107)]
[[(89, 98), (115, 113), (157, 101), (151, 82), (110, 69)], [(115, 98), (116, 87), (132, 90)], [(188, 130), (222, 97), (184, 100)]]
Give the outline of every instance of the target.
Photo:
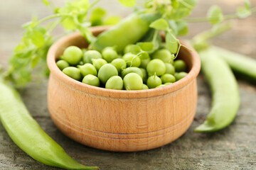
[[(9, 68), (4, 72), (5, 79), (11, 81), (16, 88), (23, 88), (30, 81), (41, 79), (41, 76), (49, 74), (46, 66), (46, 55), (53, 44), (53, 30), (57, 26), (63, 26), (67, 31), (80, 31), (88, 42), (94, 42), (95, 37), (90, 32), (90, 26), (114, 25), (120, 18), (111, 16), (105, 18), (106, 11), (95, 7), (100, 0), (75, 0), (67, 1), (62, 7), (55, 7), (49, 0), (42, 0), (43, 4), (53, 9), (53, 14), (45, 18), (32, 20), (23, 25), (24, 33), (13, 55), (9, 60)], [(118, 0), (120, 4), (132, 7), (139, 5), (136, 0)], [(170, 50), (172, 59), (178, 55), (183, 46), (176, 38), (188, 33), (189, 22), (209, 22), (213, 25), (212, 31), (217, 33), (223, 30), (223, 22), (234, 18), (246, 18), (256, 11), (251, 8), (250, 1), (244, 0), (244, 6), (240, 6), (236, 13), (223, 15), (220, 7), (211, 6), (206, 18), (188, 18), (196, 6), (196, 0), (145, 0), (136, 8), (142, 13), (159, 13), (161, 17), (150, 24), (152, 38), (147, 42), (139, 42), (132, 47), (134, 54), (139, 57), (148, 57), (146, 52), (152, 52), (162, 45), (159, 41), (161, 32), (166, 36), (166, 48)], [(90, 18), (88, 13), (91, 13)], [(228, 27), (226, 27), (228, 28)], [(219, 31), (222, 32), (222, 31)], [(207, 39), (212, 36), (200, 36), (199, 39)]]

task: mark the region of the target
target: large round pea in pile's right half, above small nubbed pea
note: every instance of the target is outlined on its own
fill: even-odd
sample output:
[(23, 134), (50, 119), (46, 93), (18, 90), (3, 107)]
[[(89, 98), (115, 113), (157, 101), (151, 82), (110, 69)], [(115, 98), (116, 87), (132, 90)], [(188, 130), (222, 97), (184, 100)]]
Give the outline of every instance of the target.
[(149, 76), (156, 74), (156, 76), (161, 76), (166, 72), (166, 66), (162, 60), (154, 59), (149, 62), (146, 66), (146, 71)]

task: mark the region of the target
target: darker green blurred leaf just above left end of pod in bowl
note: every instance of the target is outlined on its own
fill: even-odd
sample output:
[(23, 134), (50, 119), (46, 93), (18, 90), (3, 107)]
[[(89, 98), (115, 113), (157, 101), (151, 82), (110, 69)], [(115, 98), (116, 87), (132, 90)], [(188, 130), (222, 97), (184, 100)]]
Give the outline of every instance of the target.
[(103, 23), (103, 17), (106, 13), (107, 12), (103, 8), (94, 8), (90, 18), (92, 26), (101, 26)]

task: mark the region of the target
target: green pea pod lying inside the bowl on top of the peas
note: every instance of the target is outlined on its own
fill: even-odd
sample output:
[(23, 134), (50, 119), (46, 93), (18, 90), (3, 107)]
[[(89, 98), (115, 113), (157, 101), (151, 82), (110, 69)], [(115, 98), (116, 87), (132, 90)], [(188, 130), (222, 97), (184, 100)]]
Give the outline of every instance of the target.
[(90, 48), (102, 51), (105, 47), (116, 46), (117, 52), (122, 52), (125, 46), (140, 40), (149, 30), (151, 21), (159, 17), (159, 13), (133, 13), (116, 26), (101, 33)]

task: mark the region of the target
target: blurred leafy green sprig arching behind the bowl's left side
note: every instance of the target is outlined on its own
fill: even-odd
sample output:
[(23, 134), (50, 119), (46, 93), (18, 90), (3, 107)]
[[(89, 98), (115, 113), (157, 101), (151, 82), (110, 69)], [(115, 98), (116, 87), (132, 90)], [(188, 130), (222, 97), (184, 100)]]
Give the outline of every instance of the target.
[[(92, 23), (95, 25), (115, 24), (119, 22), (117, 16), (108, 18), (105, 23), (97, 23), (97, 20), (103, 21), (105, 12), (100, 16), (95, 16), (92, 11), (92, 18), (88, 20), (87, 14), (90, 9), (100, 0), (95, 0), (90, 4), (89, 0), (67, 1), (65, 6), (56, 8), (48, 0), (42, 0), (43, 4), (53, 8), (53, 14), (46, 16), (41, 20), (33, 17), (32, 21), (23, 25), (23, 38), (14, 49), (14, 53), (9, 60), (9, 69), (5, 72), (5, 78), (14, 83), (16, 88), (23, 88), (32, 79), (41, 79), (49, 74), (46, 65), (46, 56), (53, 44), (53, 30), (61, 25), (65, 30), (77, 31), (87, 39), (88, 42), (95, 40), (95, 37), (89, 30)], [(125, 4), (131, 5), (131, 4)], [(103, 9), (97, 9), (97, 11)]]

